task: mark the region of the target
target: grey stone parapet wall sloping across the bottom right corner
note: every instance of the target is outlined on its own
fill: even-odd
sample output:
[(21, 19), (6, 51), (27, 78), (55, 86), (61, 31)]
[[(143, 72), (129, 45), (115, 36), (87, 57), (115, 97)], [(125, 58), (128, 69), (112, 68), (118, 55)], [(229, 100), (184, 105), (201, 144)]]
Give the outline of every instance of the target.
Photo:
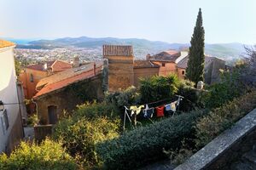
[(256, 144), (256, 109), (191, 156), (175, 170), (229, 169)]

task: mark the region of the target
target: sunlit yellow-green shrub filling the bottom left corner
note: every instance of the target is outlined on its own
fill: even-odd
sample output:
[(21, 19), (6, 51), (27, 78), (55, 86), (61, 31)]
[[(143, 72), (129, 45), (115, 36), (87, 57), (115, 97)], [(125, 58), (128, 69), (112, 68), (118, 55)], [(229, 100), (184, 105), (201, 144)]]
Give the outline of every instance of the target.
[(10, 156), (0, 156), (0, 169), (79, 169), (61, 143), (45, 139), (41, 144), (21, 142)]

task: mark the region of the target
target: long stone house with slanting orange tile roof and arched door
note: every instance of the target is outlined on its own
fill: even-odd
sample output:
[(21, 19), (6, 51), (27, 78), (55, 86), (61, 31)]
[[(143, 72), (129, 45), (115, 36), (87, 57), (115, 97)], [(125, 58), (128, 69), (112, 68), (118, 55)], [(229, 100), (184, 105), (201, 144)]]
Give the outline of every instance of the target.
[(93, 62), (41, 79), (33, 96), (40, 124), (55, 124), (64, 111), (93, 99), (103, 99), (103, 63)]

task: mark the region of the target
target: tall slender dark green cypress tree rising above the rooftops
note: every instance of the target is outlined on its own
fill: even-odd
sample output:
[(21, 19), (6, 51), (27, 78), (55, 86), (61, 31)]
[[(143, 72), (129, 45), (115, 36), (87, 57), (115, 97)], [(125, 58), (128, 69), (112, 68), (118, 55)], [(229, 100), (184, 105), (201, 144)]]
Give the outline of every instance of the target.
[(205, 62), (205, 30), (202, 26), (201, 8), (196, 19), (193, 36), (189, 47), (189, 61), (186, 69), (186, 78), (192, 82), (204, 81), (204, 62)]

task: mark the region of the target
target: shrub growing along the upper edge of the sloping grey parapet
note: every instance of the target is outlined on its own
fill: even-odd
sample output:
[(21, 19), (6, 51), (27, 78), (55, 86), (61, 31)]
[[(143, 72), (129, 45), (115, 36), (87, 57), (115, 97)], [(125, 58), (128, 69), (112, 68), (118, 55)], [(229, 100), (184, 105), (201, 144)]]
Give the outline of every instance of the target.
[(256, 91), (253, 91), (211, 111), (208, 116), (196, 123), (196, 146), (200, 148), (209, 143), (242, 116), (252, 111), (255, 106)]

